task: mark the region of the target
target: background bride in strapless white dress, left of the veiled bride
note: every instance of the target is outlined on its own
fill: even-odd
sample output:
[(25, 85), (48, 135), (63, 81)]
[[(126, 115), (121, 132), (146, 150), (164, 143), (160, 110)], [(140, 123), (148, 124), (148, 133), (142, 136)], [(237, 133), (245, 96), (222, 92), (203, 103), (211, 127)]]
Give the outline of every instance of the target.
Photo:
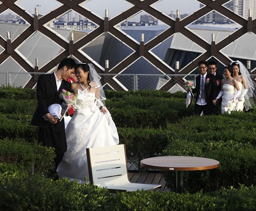
[[(236, 110), (236, 98), (240, 95), (240, 88), (238, 86), (237, 81), (231, 77), (232, 74), (232, 66), (231, 65), (225, 65), (223, 68), (223, 73), (225, 78), (221, 80), (221, 91), (216, 97), (216, 100), (214, 104), (216, 104), (217, 100), (222, 96), (222, 102), (221, 102), (221, 113), (225, 113), (228, 111)], [(238, 91), (235, 94), (234, 88), (236, 88)]]

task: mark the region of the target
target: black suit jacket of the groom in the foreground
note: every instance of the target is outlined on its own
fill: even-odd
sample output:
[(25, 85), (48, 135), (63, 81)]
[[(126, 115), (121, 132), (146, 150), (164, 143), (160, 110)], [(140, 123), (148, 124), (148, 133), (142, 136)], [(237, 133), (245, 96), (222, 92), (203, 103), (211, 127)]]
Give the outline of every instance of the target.
[[(32, 117), (31, 125), (47, 128), (51, 123), (45, 121), (43, 116), (49, 113), (48, 106), (52, 104), (62, 104), (64, 101), (60, 98), (60, 92), (65, 89), (71, 92), (71, 84), (65, 80), (61, 82), (60, 89), (57, 91), (56, 79), (54, 73), (44, 74), (38, 77), (36, 86), (36, 98), (38, 107)], [(53, 131), (63, 131), (65, 133), (64, 119), (56, 124), (51, 124)]]

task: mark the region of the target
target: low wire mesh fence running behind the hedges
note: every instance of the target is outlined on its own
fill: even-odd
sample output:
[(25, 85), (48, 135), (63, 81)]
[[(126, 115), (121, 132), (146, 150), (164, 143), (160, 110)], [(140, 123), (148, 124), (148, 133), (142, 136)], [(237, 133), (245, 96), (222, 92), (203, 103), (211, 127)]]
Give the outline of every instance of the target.
[[(1, 86), (36, 88), (38, 76), (48, 73), (0, 73)], [(143, 75), (143, 74), (99, 74), (104, 90), (168, 90), (172, 93), (184, 90), (184, 81), (194, 82), (196, 75)], [(256, 75), (251, 75), (255, 81)]]

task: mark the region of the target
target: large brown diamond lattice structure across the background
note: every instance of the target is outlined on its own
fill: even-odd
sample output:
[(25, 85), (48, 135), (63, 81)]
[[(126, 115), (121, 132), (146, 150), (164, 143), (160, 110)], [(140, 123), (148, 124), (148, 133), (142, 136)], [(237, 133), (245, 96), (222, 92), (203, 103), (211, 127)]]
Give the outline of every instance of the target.
[[(138, 60), (140, 57), (143, 56), (146, 60), (150, 61), (152, 65), (159, 68), (160, 71), (167, 75), (170, 75), (174, 74), (172, 68), (167, 67), (167, 65), (163, 64), (163, 62), (160, 61), (158, 57), (155, 57), (149, 51), (152, 48), (156, 47), (156, 45), (158, 45), (159, 43), (162, 43), (164, 40), (170, 38), (170, 36), (174, 35), (175, 33), (181, 33), (188, 39), (192, 40), (192, 42), (195, 42), (201, 48), (205, 49), (205, 52), (203, 54), (201, 54), (199, 57), (197, 57), (195, 60), (189, 63), (186, 67), (181, 69), (179, 72), (180, 74), (188, 74), (189, 72), (191, 72), (192, 69), (196, 68), (198, 61), (208, 60), (212, 56), (216, 57), (216, 59), (221, 61), (223, 64), (230, 63), (231, 59), (229, 59), (229, 57), (221, 53), (220, 50), (229, 45), (230, 43), (234, 42), (234, 40), (237, 40), (241, 36), (245, 35), (247, 32), (253, 32), (254, 34), (256, 34), (256, 19), (243, 19), (241, 16), (233, 13), (225, 6), (222, 6), (230, 0), (197, 0), (205, 6), (182, 20), (180, 20), (180, 18), (176, 18), (176, 20), (174, 20), (150, 6), (155, 2), (158, 2), (158, 0), (126, 0), (134, 6), (126, 11), (123, 11), (123, 13), (115, 16), (112, 19), (101, 19), (98, 16), (91, 13), (90, 11), (86, 10), (84, 7), (79, 6), (79, 4), (84, 2), (84, 0), (56, 1), (62, 3), (63, 6), (51, 11), (51, 13), (48, 13), (47, 15), (44, 15), (41, 18), (38, 18), (38, 16), (36, 15), (33, 18), (31, 15), (24, 12), (20, 7), (15, 5), (16, 0), (1, 0), (2, 4), (0, 5), (0, 13), (3, 13), (3, 11), (10, 9), (14, 11), (14, 13), (22, 16), (22, 18), (26, 20), (26, 22), (30, 23), (30, 27), (23, 31), (22, 34), (20, 34), (18, 38), (16, 38), (13, 42), (11, 42), (11, 40), (5, 40), (3, 38), (0, 38), (0, 45), (5, 49), (0, 54), (0, 64), (3, 63), (3, 61), (5, 61), (9, 56), (11, 56), (20, 65), (20, 67), (26, 69), (27, 72), (39, 71), (45, 73), (48, 72), (49, 69), (52, 69), (57, 64), (59, 64), (64, 57), (68, 57), (70, 55), (76, 57), (77, 60), (90, 62), (89, 59), (86, 58), (86, 56), (84, 56), (81, 52), (77, 51), (77, 49), (80, 49), (82, 46), (85, 46), (86, 44), (92, 42), (92, 40), (98, 38), (102, 34), (109, 32), (110, 34), (121, 40), (123, 43), (128, 45), (131, 49), (134, 50), (134, 52), (131, 53), (130, 56), (126, 57), (126, 59), (122, 60), (114, 68), (106, 71), (105, 73), (109, 72), (112, 74), (118, 74), (122, 72), (123, 69), (129, 67), (130, 64), (134, 63), (134, 61)], [(172, 0), (170, 0), (170, 4), (171, 2)], [(66, 42), (59, 36), (56, 36), (56, 34), (54, 34), (52, 31), (44, 27), (44, 24), (50, 22), (51, 20), (56, 19), (56, 17), (60, 16), (61, 14), (67, 13), (67, 11), (71, 9), (76, 13), (82, 14), (82, 16), (85, 16), (86, 18), (88, 18), (89, 20), (91, 20), (99, 26), (95, 30), (90, 32), (88, 35), (86, 35), (84, 38), (78, 40), (75, 43)], [(213, 10), (217, 11), (217, 13), (225, 15), (230, 20), (233, 20), (237, 24), (241, 25), (241, 28), (239, 28), (237, 31), (230, 34), (217, 44), (215, 42), (212, 42), (211, 44), (205, 42), (205, 40), (201, 39), (199, 36), (197, 36), (195, 33), (193, 33), (185, 27), (188, 26), (188, 24), (195, 22), (197, 19), (201, 18), (202, 16), (208, 14), (210, 11)], [(137, 14), (139, 11), (145, 11), (149, 15), (152, 15), (158, 20), (162, 21), (167, 26), (170, 26), (170, 28), (167, 28), (167, 30), (165, 30), (164, 32), (162, 32), (146, 44), (144, 44), (143, 42), (139, 44), (137, 42), (134, 42), (134, 40), (130, 39), (129, 36), (125, 34), (125, 32), (118, 30), (115, 26), (118, 23), (125, 21), (130, 16)], [(35, 69), (34, 67), (31, 67), (31, 65), (28, 64), (23, 59), (23, 57), (21, 57), (18, 53), (14, 51), (14, 49), (17, 48), (20, 45), (20, 43), (24, 42), (24, 40), (26, 40), (28, 37), (34, 34), (37, 30), (40, 31), (43, 35), (50, 38), (53, 42), (60, 45), (60, 47), (65, 49), (63, 52), (60, 53), (60, 55), (55, 57), (53, 60), (49, 61), (46, 65), (44, 65), (44, 67), (40, 68), (39, 70)], [(98, 67), (96, 68), (98, 73), (104, 73), (102, 69)], [(162, 90), (168, 89), (167, 86), (168, 84), (163, 86)]]

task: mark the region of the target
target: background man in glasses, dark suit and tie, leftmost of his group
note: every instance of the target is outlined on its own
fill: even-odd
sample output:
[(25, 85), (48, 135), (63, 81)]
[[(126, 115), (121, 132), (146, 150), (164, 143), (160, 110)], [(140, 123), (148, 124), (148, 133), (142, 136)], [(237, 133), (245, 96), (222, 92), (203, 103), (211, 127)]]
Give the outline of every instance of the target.
[(213, 100), (216, 98), (216, 78), (207, 73), (207, 62), (199, 61), (198, 63), (200, 75), (196, 76), (196, 88), (192, 89), (192, 93), (197, 93), (195, 104), (195, 115), (212, 114)]

